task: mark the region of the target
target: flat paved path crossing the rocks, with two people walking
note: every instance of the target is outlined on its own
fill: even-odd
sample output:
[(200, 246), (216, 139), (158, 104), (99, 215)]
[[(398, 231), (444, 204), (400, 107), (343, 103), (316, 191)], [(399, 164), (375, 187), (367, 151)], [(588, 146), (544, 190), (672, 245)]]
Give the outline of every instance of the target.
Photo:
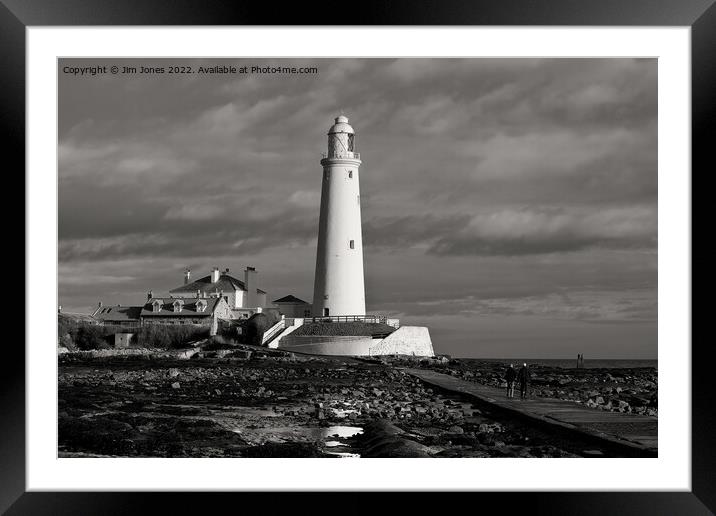
[(553, 398), (520, 400), (518, 388), (515, 389), (516, 397), (508, 399), (503, 389), (461, 380), (429, 369), (406, 368), (405, 371), (431, 385), (474, 396), (508, 412), (587, 434), (612, 444), (628, 446), (647, 455), (657, 454), (658, 420), (652, 416), (592, 409), (572, 401)]

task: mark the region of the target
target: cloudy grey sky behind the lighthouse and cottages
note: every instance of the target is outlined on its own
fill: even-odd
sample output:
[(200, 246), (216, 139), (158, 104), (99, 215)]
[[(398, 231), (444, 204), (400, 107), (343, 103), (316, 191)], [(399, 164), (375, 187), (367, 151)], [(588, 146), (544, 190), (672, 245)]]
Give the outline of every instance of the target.
[[(318, 72), (63, 73), (112, 64)], [(311, 302), (343, 113), (369, 313), (456, 357), (657, 356), (655, 59), (63, 59), (58, 75), (65, 311), (214, 266)]]

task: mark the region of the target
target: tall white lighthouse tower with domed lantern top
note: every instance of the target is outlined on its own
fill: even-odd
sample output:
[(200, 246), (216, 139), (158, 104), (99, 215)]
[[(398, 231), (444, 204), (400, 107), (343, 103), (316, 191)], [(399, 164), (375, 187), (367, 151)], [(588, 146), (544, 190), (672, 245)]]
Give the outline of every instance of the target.
[(348, 118), (341, 115), (328, 130), (328, 152), (321, 160), (314, 316), (365, 315), (360, 164), (355, 132)]

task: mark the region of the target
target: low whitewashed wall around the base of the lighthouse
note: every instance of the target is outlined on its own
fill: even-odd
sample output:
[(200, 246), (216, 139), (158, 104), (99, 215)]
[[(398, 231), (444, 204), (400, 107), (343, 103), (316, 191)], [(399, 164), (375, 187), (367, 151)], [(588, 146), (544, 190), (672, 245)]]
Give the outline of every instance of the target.
[(435, 355), (430, 333), (424, 326), (402, 326), (384, 339), (287, 334), (280, 339), (278, 349), (333, 356)]

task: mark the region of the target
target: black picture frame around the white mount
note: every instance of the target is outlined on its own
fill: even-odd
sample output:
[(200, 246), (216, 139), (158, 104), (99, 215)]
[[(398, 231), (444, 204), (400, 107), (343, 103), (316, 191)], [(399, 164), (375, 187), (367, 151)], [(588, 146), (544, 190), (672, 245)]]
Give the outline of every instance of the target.
[[(29, 26), (88, 25), (576, 25), (689, 26), (692, 72), (692, 170), (712, 172), (707, 161), (716, 141), (715, 0), (364, 0), (339, 10), (336, 2), (281, 3), (249, 0), (0, 0), (0, 120), (6, 165), (15, 163), (16, 192), (24, 192), (25, 29)], [(346, 4), (348, 5), (348, 4)], [(350, 12), (349, 12), (350, 11)], [(7, 158), (11, 158), (7, 160)], [(710, 166), (709, 166), (710, 165)], [(708, 169), (707, 169), (708, 166)], [(693, 178), (697, 174), (692, 172)], [(693, 212), (693, 201), (692, 201)], [(694, 222), (695, 217), (692, 217)], [(693, 226), (692, 226), (693, 228)], [(692, 229), (693, 234), (693, 229)], [(19, 241), (19, 240), (18, 240)], [(19, 247), (19, 245), (17, 246)], [(693, 253), (693, 245), (692, 245)], [(25, 274), (29, 271), (25, 270)], [(693, 274), (693, 268), (692, 268)], [(705, 287), (702, 287), (705, 289)], [(23, 306), (25, 306), (23, 304)], [(692, 312), (693, 313), (693, 312)], [(25, 317), (29, 316), (29, 312)], [(693, 320), (693, 316), (692, 316)], [(27, 324), (27, 319), (26, 319)], [(47, 323), (50, 325), (50, 323)], [(693, 323), (692, 323), (693, 331)], [(6, 340), (7, 339), (6, 337)], [(38, 493), (25, 488), (25, 350), (7, 342), (0, 391), (0, 511), (7, 514), (127, 514), (159, 504), (162, 513), (205, 512), (208, 507), (268, 504), (267, 493)], [(660, 345), (667, 343), (660, 342)], [(688, 346), (691, 343), (669, 343)], [(711, 514), (716, 511), (716, 396), (710, 388), (709, 340), (691, 346), (692, 490), (690, 492), (453, 493), (447, 507), (479, 510), (480, 504), (509, 504), (531, 514)], [(325, 495), (292, 493), (281, 503), (312, 512), (365, 513), (388, 508), (385, 494), (342, 494), (340, 507)], [(239, 500), (240, 498), (240, 500)], [(337, 498), (337, 497), (333, 497)], [(401, 512), (443, 501), (424, 493), (401, 497)], [(270, 499), (270, 502), (267, 501)], [(321, 500), (321, 501), (319, 501)], [(264, 506), (267, 507), (267, 506)], [(487, 507), (487, 505), (485, 505)], [(233, 512), (233, 509), (232, 509)]]

